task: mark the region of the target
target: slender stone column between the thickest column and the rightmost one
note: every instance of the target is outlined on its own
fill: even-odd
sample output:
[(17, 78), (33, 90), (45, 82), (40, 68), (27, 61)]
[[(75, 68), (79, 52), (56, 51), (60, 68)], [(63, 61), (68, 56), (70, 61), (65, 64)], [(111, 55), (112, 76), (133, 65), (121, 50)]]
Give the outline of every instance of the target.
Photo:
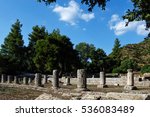
[(97, 87), (98, 88), (105, 88), (105, 87), (107, 87), (105, 72), (101, 71), (99, 75), (100, 75), (100, 84)]

